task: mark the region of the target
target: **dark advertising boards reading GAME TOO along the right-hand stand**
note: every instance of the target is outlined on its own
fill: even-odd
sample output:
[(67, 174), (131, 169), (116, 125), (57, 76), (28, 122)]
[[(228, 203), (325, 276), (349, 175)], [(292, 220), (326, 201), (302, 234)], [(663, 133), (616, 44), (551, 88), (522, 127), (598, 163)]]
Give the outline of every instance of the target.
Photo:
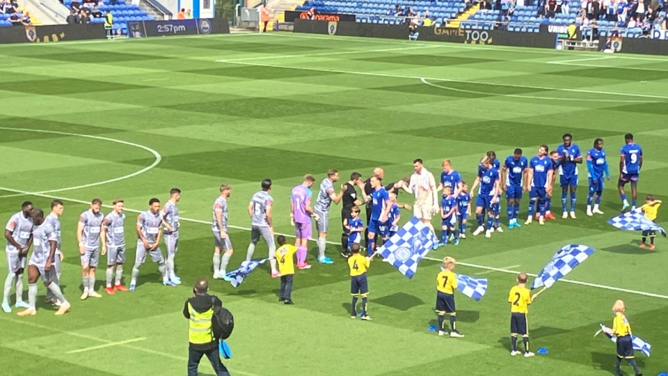
[[(521, 33), (518, 31), (504, 30), (479, 30), (479, 29), (455, 29), (450, 27), (419, 27), (420, 37), (418, 40), (429, 40), (436, 42), (452, 42), (473, 45), (500, 45), (514, 47), (539, 47), (554, 49), (557, 40), (564, 37), (562, 30), (549, 29), (547, 25), (541, 25), (539, 33)], [(337, 36), (360, 36), (369, 38), (408, 39), (408, 25), (369, 24), (361, 22), (334, 22), (334, 21), (312, 21), (308, 19), (294, 20), (295, 33), (330, 34)], [(580, 31), (578, 31), (578, 39)], [(616, 52), (628, 54), (658, 54), (668, 55), (668, 41), (660, 40), (663, 35), (651, 38), (618, 38), (615, 43)], [(668, 36), (667, 36), (668, 37)], [(606, 37), (601, 37), (599, 45), (601, 48), (607, 42)]]

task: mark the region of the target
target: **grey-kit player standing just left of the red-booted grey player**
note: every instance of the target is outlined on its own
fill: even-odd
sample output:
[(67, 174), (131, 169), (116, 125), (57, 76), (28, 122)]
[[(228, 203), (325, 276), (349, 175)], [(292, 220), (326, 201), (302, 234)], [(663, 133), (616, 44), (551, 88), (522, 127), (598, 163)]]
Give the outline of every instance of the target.
[(81, 300), (88, 297), (102, 297), (95, 292), (95, 269), (100, 262), (100, 230), (104, 214), (100, 212), (102, 200), (94, 198), (90, 203), (90, 209), (81, 213), (77, 226), (77, 240), (79, 241), (79, 253), (81, 253), (81, 280), (84, 285), (84, 293)]

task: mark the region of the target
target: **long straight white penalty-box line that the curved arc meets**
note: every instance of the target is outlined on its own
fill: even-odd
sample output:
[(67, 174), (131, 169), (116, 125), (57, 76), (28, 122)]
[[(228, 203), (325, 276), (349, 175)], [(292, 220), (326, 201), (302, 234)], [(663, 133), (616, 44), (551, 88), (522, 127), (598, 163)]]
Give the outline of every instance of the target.
[(546, 87), (546, 86), (502, 84), (502, 83), (498, 83), (498, 82), (468, 81), (468, 80), (463, 80), (463, 79), (445, 79), (445, 78), (420, 77), (420, 76), (411, 76), (411, 75), (393, 75), (393, 74), (390, 74), (390, 73), (379, 73), (379, 72), (358, 72), (358, 71), (353, 71), (353, 70), (340, 70), (340, 69), (294, 67), (294, 66), (291, 67), (291, 66), (288, 66), (288, 65), (248, 63), (248, 62), (242, 62), (242, 61), (234, 61), (234, 62), (230, 62), (230, 64), (252, 65), (252, 66), (257, 66), (257, 67), (269, 67), (269, 68), (287, 68), (287, 69), (296, 69), (296, 70), (312, 70), (312, 71), (315, 71), (315, 72), (343, 73), (343, 74), (346, 74), (346, 75), (362, 75), (362, 76), (375, 76), (375, 77), (395, 77), (395, 78), (405, 78), (405, 79), (428, 79), (428, 80), (431, 80), (431, 81), (459, 82), (459, 83), (462, 83), (462, 84), (479, 84), (479, 85), (489, 85), (489, 86), (510, 86), (510, 87), (513, 87), (513, 88), (530, 88), (530, 89), (546, 90), (546, 91), (565, 91), (565, 92), (568, 92), (568, 93), (618, 95), (618, 96), (622, 96), (622, 97), (642, 97), (642, 98), (653, 98), (653, 99), (668, 100), (668, 96), (664, 96), (664, 95), (616, 93), (616, 92), (612, 92), (612, 91), (597, 91), (597, 90), (585, 90), (585, 89), (575, 89), (575, 88), (550, 88), (550, 87)]

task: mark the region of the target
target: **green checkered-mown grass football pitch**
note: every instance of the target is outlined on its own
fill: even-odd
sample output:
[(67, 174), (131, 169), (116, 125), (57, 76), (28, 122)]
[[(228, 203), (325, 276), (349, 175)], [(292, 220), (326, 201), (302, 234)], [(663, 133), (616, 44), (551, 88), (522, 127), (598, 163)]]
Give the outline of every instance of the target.
[[(335, 263), (317, 265), (310, 242), (313, 267), (296, 273), (296, 305), (278, 304), (268, 265), (236, 289), (210, 281), (235, 317), (234, 356), (225, 364), (245, 376), (610, 375), (614, 344), (593, 335), (599, 323), (612, 324), (612, 304), (623, 299), (633, 333), (653, 347), (651, 358), (636, 352), (641, 370), (668, 370), (668, 242), (658, 237), (654, 251), (639, 249), (639, 233), (607, 224), (621, 209), (617, 166), (626, 132), (644, 149), (639, 203), (646, 194), (668, 198), (668, 58), (287, 33), (14, 45), (0, 47), (0, 56), (0, 219), (26, 200), (45, 212), (52, 198), (65, 201), (62, 284), (72, 302), (70, 313), (55, 317), (40, 283), (36, 316), (19, 318), (16, 308), (0, 314), (1, 375), (186, 375), (182, 309), (194, 281), (212, 276), (210, 221), (222, 183), (232, 185), (231, 270), (246, 256), (246, 207), (263, 178), (273, 180), (276, 233), (292, 234), (289, 193), (305, 173), (316, 176), (317, 191), (328, 169), (338, 169), (342, 183), (381, 166), (389, 182), (411, 175), (417, 157), (434, 175), (449, 158), (470, 185), (487, 150), (503, 160), (519, 147), (531, 157), (543, 143), (556, 148), (566, 132), (583, 154), (596, 137), (605, 141), (612, 180), (604, 215), (584, 214), (582, 165), (578, 219), (507, 230), (503, 202), (505, 233), (469, 233), (459, 246), (432, 251), (412, 280), (374, 261), (374, 320), (362, 322), (349, 316), (333, 205), (327, 254)], [(176, 264), (184, 284), (164, 287), (148, 262), (136, 292), (108, 296), (102, 267), (104, 297), (79, 301), (75, 232), (90, 200), (125, 199), (129, 283), (134, 216), (152, 197), (166, 201), (172, 187), (183, 191)], [(559, 198), (555, 191), (557, 214)], [(413, 198), (403, 193), (399, 202)], [(411, 217), (401, 214), (402, 222)], [(507, 297), (515, 272), (539, 272), (571, 243), (596, 252), (530, 306), (532, 350), (549, 353), (511, 357)], [(255, 257), (266, 254), (260, 242)], [(455, 272), (489, 281), (481, 301), (456, 296), (465, 338), (427, 330), (436, 324), (435, 279), (446, 255), (458, 261)], [(6, 267), (0, 258), (3, 279)], [(200, 374), (212, 373), (202, 361)]]

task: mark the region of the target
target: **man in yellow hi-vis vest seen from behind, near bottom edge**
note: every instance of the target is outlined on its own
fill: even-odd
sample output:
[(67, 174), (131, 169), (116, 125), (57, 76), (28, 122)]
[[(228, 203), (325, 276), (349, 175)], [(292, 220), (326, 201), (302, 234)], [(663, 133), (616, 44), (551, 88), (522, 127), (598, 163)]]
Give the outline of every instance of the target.
[(183, 315), (189, 320), (188, 341), (188, 376), (197, 376), (197, 368), (203, 356), (207, 356), (216, 376), (230, 376), (228, 368), (221, 362), (218, 353), (218, 340), (214, 338), (211, 319), (214, 315), (214, 306), (223, 306), (221, 299), (209, 295), (209, 283), (200, 279), (193, 288), (194, 296), (186, 300)]

